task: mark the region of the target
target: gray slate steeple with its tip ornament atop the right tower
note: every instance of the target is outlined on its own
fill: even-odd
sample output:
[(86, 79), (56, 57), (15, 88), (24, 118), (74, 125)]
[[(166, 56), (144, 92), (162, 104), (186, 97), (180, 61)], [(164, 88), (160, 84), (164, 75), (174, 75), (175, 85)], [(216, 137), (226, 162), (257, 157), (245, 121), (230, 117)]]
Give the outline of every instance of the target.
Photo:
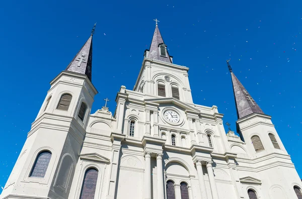
[(232, 76), (233, 90), (235, 96), (235, 104), (237, 110), (237, 117), (241, 119), (245, 116), (248, 116), (252, 113), (264, 114), (257, 103), (254, 101), (250, 93), (245, 89), (242, 83), (238, 80), (235, 74), (232, 71), (232, 67), (229, 61), (228, 63), (229, 70)]

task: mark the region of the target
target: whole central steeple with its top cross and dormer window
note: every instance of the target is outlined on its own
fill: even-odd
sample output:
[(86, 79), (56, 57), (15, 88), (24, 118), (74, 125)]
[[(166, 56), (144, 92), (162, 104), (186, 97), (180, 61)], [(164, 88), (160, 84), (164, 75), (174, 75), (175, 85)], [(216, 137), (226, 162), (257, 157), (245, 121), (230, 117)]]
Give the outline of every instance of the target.
[[(158, 22), (157, 20), (155, 20)], [(146, 50), (147, 51), (147, 50)], [(153, 34), (150, 49), (146, 53), (146, 57), (150, 59), (160, 60), (168, 63), (172, 63), (172, 56), (169, 55), (167, 45), (165, 45), (159, 30), (158, 24), (156, 23), (155, 31)]]

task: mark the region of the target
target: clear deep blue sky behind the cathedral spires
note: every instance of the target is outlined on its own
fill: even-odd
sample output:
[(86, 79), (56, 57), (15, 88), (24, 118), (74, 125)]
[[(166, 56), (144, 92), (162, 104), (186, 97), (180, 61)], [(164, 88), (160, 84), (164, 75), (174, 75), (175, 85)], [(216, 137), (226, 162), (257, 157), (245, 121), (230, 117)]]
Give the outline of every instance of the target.
[[(195, 104), (216, 105), (236, 128), (225, 60), (272, 122), (300, 176), (301, 1), (4, 1), (0, 7), (0, 192), (44, 101), (49, 82), (97, 22), (92, 113), (121, 85), (132, 89), (155, 29), (175, 64), (190, 68)], [(110, 82), (110, 83), (106, 83)], [(227, 127), (225, 126), (227, 130)]]

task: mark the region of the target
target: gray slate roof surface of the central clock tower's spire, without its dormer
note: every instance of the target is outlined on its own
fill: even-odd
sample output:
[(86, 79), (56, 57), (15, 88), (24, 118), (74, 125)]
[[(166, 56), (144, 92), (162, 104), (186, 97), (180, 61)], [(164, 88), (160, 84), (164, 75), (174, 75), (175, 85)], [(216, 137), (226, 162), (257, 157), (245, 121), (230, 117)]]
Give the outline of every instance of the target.
[(158, 25), (156, 25), (155, 31), (154, 31), (154, 34), (153, 34), (153, 39), (152, 39), (150, 49), (149, 49), (149, 53), (148, 53), (147, 57), (150, 58), (150, 59), (155, 59), (155, 60), (160, 60), (160, 61), (165, 61), (165, 62), (168, 62), (168, 63), (172, 63), (172, 60), (171, 60), (170, 55), (168, 53), (168, 49), (167, 49), (167, 57), (161, 56), (160, 49), (159, 49), (160, 44), (165, 44), (165, 43), (164, 43), (164, 40), (163, 40), (162, 35), (160, 33), (159, 27), (158, 27)]

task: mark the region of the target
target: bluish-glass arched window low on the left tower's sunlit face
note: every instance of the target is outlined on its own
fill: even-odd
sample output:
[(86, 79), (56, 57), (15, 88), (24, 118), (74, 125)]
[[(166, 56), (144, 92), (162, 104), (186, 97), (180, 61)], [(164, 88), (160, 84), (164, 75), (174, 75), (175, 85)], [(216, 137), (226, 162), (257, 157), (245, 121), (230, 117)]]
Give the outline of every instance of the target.
[(30, 177), (43, 178), (45, 176), (50, 158), (51, 153), (49, 151), (40, 152), (35, 160), (35, 164), (30, 173)]

